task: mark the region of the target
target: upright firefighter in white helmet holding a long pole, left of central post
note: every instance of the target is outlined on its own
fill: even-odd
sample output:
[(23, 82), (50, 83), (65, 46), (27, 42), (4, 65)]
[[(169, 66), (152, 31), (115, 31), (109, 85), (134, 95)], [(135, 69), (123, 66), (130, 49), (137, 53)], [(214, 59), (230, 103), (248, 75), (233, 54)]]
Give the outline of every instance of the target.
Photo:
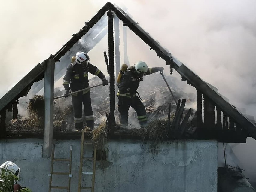
[[(75, 61), (68, 66), (63, 78), (63, 86), (66, 90), (64, 97), (69, 96), (67, 94), (70, 93), (70, 90), (74, 92), (89, 87), (88, 72), (97, 75), (102, 80), (103, 86), (108, 85), (108, 80), (105, 78), (105, 75), (96, 66), (88, 62), (89, 60), (89, 56), (86, 53), (81, 51), (76, 53)], [(83, 128), (82, 103), (84, 104), (86, 124), (93, 130), (94, 119), (90, 89), (72, 94), (75, 128), (77, 130), (82, 130)]]

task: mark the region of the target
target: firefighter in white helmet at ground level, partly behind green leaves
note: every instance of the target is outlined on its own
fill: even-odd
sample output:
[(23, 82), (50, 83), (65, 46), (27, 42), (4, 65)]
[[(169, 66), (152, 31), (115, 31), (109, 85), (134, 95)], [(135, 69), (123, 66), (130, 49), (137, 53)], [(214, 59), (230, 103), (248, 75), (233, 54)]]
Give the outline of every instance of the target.
[[(19, 180), (20, 168), (12, 161), (6, 161), (0, 166), (0, 175), (2, 174), (2, 169), (7, 169), (9, 172), (11, 172), (13, 175), (17, 177), (17, 180)], [(9, 174), (9, 172), (7, 174)], [(10, 188), (11, 191), (18, 191), (20, 189), (22, 189), (22, 187), (19, 184), (17, 184), (17, 181), (14, 181), (13, 186), (11, 186)]]

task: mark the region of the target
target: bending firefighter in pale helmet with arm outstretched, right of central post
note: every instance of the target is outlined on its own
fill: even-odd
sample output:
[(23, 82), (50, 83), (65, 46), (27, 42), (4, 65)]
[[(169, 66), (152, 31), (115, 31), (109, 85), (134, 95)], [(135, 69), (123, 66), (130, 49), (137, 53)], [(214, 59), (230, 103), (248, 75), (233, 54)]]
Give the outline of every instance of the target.
[(147, 116), (145, 106), (140, 98), (136, 96), (140, 81), (143, 81), (144, 75), (156, 72), (163, 72), (163, 67), (148, 68), (145, 62), (139, 61), (134, 66), (128, 68), (121, 76), (118, 97), (118, 111), (120, 112), (120, 125), (128, 126), (128, 111), (130, 106), (137, 113), (137, 119), (141, 126), (147, 125)]

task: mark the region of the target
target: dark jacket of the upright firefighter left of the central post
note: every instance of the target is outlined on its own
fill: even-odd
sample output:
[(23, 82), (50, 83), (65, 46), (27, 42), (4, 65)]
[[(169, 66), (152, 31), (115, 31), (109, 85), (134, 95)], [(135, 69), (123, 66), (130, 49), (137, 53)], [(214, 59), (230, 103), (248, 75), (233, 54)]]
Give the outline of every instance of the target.
[[(65, 87), (65, 90), (69, 91), (69, 84), (71, 92), (89, 87), (88, 72), (97, 75), (101, 79), (105, 78), (105, 75), (91, 63), (86, 62), (79, 64), (73, 62), (68, 66), (63, 78), (63, 86)], [(83, 94), (88, 93), (89, 91), (90, 89), (85, 90), (83, 91)]]

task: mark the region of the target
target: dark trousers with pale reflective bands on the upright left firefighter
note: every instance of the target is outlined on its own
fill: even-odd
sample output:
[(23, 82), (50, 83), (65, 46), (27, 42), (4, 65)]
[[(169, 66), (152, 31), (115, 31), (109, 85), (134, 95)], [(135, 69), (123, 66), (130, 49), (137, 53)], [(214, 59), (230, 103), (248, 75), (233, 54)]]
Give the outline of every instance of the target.
[(82, 130), (83, 128), (83, 114), (82, 114), (82, 104), (84, 105), (84, 114), (85, 120), (88, 127), (91, 129), (94, 128), (94, 119), (93, 119), (93, 109), (91, 105), (91, 97), (90, 92), (82, 94), (79, 92), (77, 96), (72, 96), (72, 104), (74, 110), (74, 121), (75, 128), (78, 130)]

